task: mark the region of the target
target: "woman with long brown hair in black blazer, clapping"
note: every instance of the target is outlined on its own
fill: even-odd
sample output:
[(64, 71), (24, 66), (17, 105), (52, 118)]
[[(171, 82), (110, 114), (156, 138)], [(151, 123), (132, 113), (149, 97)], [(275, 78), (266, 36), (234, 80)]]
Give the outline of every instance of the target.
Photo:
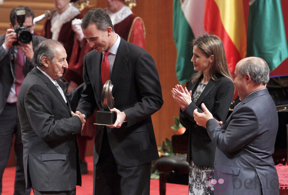
[(213, 194), (207, 178), (214, 171), (215, 145), (204, 127), (196, 125), (193, 111), (201, 111), (201, 103), (218, 121), (225, 121), (234, 94), (224, 46), (215, 35), (205, 34), (192, 41), (194, 70), (189, 90), (182, 85), (172, 89), (180, 106), (180, 122), (189, 133), (189, 195)]

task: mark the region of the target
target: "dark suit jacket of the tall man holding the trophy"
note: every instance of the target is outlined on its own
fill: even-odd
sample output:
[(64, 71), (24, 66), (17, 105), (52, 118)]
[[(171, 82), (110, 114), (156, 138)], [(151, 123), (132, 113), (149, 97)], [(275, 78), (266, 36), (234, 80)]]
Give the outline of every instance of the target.
[[(86, 116), (101, 105), (102, 53), (86, 54), (82, 97), (76, 110)], [(121, 38), (110, 75), (115, 98), (114, 107), (127, 115), (128, 121), (118, 129), (107, 127), (109, 144), (114, 158), (122, 166), (137, 166), (157, 159), (158, 149), (151, 115), (163, 105), (161, 85), (153, 58), (143, 48)], [(103, 125), (95, 135), (94, 164), (97, 164), (103, 138)]]

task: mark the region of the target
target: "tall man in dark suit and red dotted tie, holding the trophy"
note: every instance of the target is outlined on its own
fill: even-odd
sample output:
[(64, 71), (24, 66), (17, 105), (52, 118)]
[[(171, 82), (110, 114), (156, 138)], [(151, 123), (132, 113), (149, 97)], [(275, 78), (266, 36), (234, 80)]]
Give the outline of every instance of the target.
[(102, 110), (102, 87), (110, 78), (115, 98), (111, 111), (117, 115), (113, 125), (96, 130), (93, 193), (150, 194), (151, 161), (159, 157), (151, 115), (163, 105), (155, 62), (114, 32), (103, 9), (89, 10), (81, 27), (94, 50), (84, 59), (85, 85), (76, 110), (87, 117), (96, 107)]

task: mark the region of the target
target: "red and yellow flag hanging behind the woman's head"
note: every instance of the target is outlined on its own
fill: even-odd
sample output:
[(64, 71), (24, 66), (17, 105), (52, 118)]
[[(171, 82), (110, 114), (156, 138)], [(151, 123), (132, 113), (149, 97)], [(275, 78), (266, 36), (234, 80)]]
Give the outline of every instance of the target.
[(205, 31), (223, 42), (230, 73), (246, 56), (246, 25), (243, 2), (240, 0), (206, 0)]

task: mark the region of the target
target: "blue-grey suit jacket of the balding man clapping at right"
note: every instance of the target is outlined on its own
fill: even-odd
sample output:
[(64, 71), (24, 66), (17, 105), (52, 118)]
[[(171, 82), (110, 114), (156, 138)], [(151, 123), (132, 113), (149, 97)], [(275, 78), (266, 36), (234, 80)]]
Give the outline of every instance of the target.
[[(229, 180), (225, 184), (227, 188), (217, 194), (279, 194), (278, 175), (271, 156), (278, 115), (267, 88), (240, 102), (223, 128), (213, 119), (208, 120), (206, 127), (217, 146), (215, 179), (224, 175)], [(219, 190), (221, 187), (224, 186)]]

